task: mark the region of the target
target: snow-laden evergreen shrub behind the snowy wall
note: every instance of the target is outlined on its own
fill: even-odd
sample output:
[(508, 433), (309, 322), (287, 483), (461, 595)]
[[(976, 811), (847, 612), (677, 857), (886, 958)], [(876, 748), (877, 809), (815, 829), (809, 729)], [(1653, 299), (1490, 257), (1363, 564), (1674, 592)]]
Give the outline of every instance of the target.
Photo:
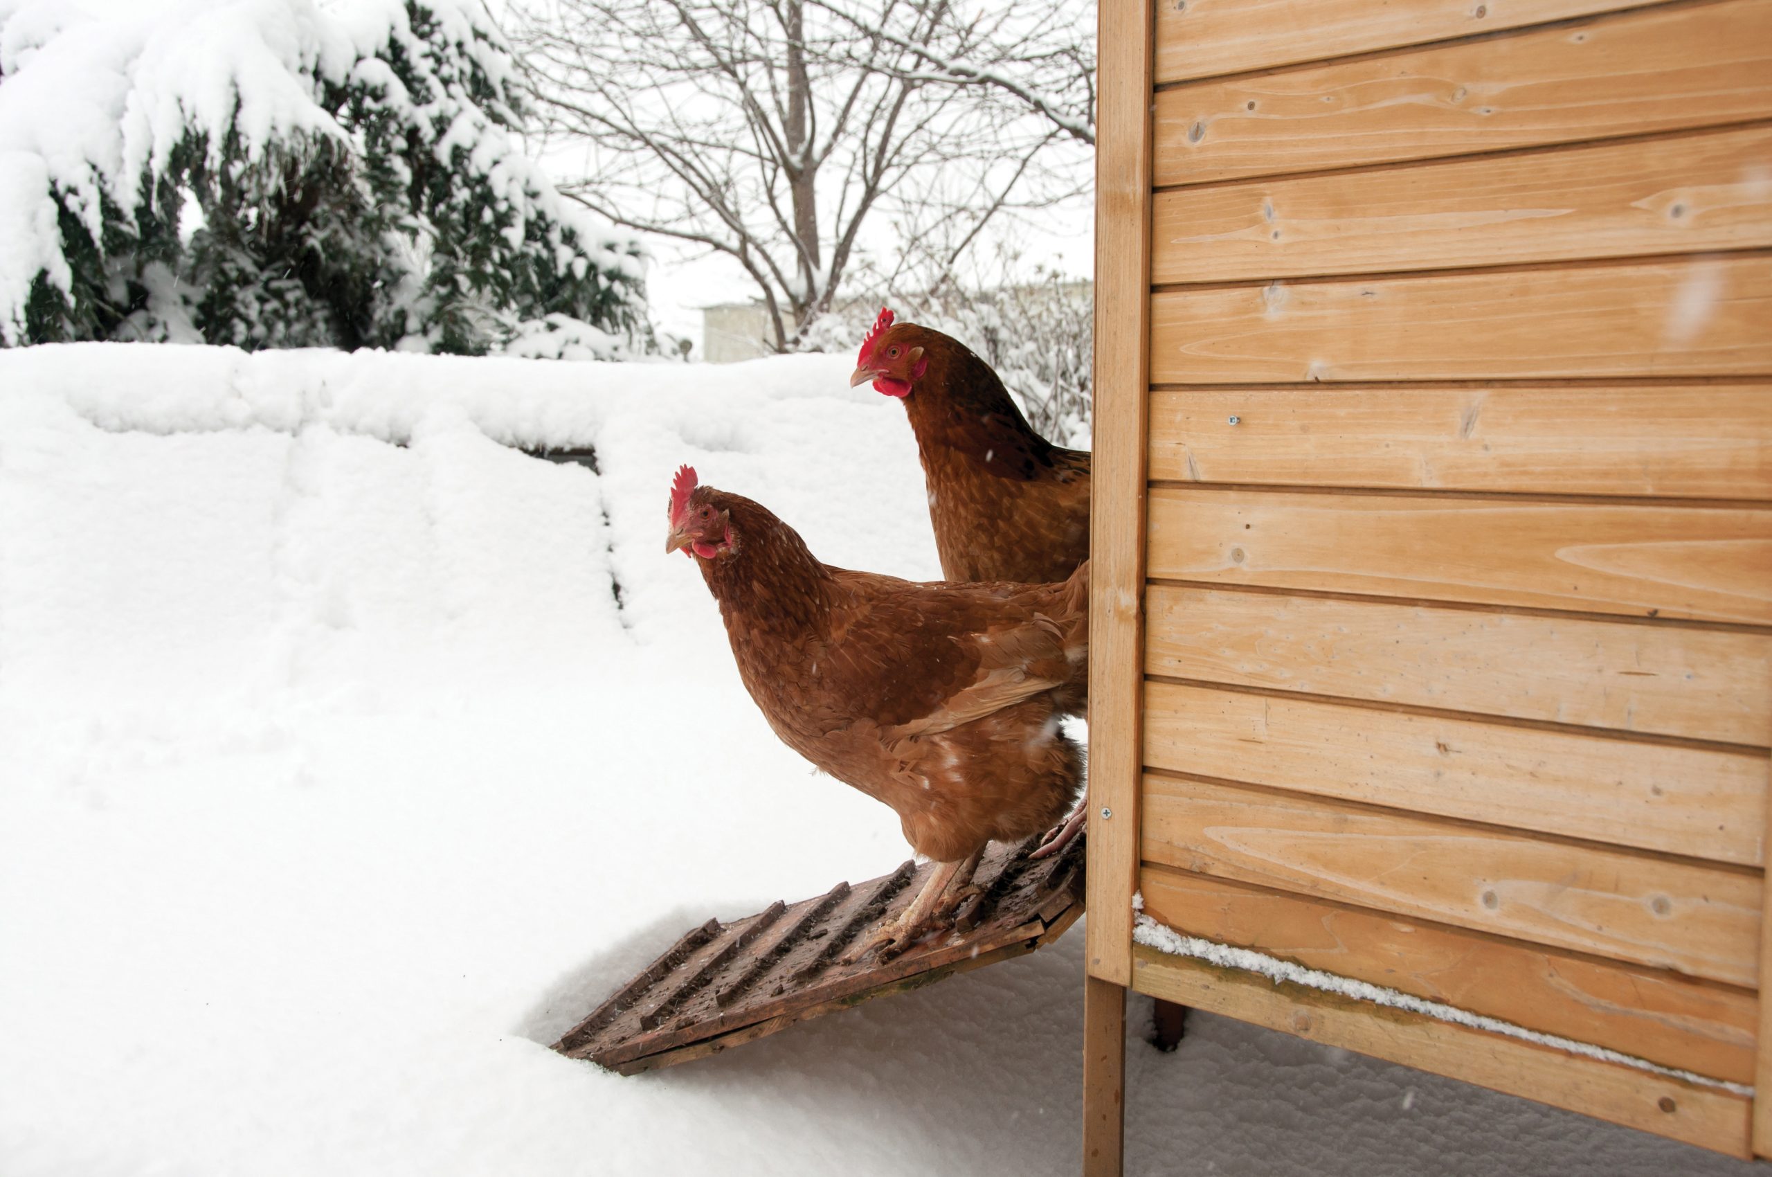
[(647, 340), (641, 248), (523, 156), (477, 0), (126, 12), (0, 0), (0, 342)]

